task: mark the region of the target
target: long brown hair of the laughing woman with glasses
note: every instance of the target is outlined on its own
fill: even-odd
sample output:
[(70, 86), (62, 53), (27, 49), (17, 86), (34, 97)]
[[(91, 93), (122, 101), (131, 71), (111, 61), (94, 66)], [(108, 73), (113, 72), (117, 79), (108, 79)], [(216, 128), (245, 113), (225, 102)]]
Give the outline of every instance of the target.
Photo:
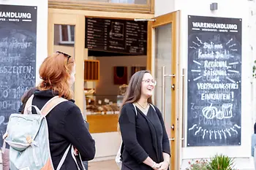
[[(121, 114), (121, 109), (123, 108), (124, 104), (132, 104), (140, 99), (141, 83), (142, 83), (144, 74), (146, 73), (151, 74), (148, 70), (141, 70), (141, 71), (135, 72), (135, 74), (132, 75), (131, 80), (129, 80), (127, 92), (124, 95), (124, 99), (120, 107), (119, 116)], [(151, 97), (148, 98), (148, 103), (152, 104)], [(119, 131), (119, 123), (118, 123), (118, 131)]]

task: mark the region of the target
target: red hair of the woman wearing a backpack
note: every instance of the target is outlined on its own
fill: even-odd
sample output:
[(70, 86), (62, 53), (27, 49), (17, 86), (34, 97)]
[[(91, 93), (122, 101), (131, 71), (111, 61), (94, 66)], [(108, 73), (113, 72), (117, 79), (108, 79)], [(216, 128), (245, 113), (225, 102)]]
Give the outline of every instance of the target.
[(74, 65), (73, 57), (68, 59), (67, 56), (61, 53), (53, 53), (53, 55), (45, 58), (39, 68), (39, 75), (42, 79), (39, 90), (53, 90), (53, 93), (60, 97), (72, 99), (73, 92), (69, 80)]

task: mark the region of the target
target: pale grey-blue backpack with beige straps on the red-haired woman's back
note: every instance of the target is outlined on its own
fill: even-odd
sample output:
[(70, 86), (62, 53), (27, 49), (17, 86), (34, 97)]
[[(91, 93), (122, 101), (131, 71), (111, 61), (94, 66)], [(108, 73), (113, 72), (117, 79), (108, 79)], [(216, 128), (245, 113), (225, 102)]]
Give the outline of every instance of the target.
[[(67, 100), (55, 96), (39, 110), (36, 106), (32, 105), (33, 98), (34, 95), (26, 102), (23, 115), (12, 114), (10, 116), (7, 131), (3, 136), (2, 152), (4, 152), (5, 142), (7, 142), (10, 145), (10, 169), (12, 170), (54, 170), (50, 157), (46, 115), (58, 104)], [(36, 109), (37, 114), (32, 114), (32, 107)], [(68, 152), (74, 155), (72, 144), (69, 144), (69, 147), (67, 147), (56, 170), (61, 169)]]

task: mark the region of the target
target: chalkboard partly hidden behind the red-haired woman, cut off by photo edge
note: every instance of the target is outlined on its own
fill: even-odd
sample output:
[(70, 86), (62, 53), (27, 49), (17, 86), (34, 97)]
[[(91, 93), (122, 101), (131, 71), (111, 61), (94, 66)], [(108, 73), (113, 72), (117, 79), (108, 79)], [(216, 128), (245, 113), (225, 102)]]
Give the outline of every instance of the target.
[[(35, 86), (37, 7), (0, 5), (0, 136), (18, 113), (20, 97)], [(0, 145), (3, 143), (0, 137)]]

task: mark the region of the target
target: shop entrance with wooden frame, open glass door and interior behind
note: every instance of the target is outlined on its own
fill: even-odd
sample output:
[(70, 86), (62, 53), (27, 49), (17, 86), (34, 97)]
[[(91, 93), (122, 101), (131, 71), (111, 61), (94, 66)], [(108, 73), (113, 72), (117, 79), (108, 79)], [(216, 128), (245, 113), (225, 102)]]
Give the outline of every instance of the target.
[[(149, 15), (120, 15), (105, 12), (86, 12), (81, 14), (74, 10), (49, 9), (48, 16), (48, 54), (62, 50), (75, 56), (76, 81), (74, 85), (75, 102), (90, 123), (89, 131), (97, 144), (95, 161), (113, 160), (120, 145), (117, 132), (118, 104), (122, 99), (122, 90), (129, 78), (140, 69), (149, 69), (157, 80), (154, 104), (162, 110), (165, 125), (170, 138), (171, 169), (178, 160), (175, 159), (178, 139), (176, 131), (176, 13), (154, 18), (154, 21), (137, 21), (135, 18), (148, 19)], [(104, 16), (104, 18), (102, 18)], [(116, 20), (116, 22), (112, 22)], [(94, 23), (104, 24), (102, 31), (111, 31), (116, 39), (110, 42), (105, 36), (99, 36), (89, 29)], [(127, 31), (127, 25), (131, 30)], [(97, 26), (97, 24), (95, 24)], [(126, 26), (126, 28), (124, 28)], [(128, 27), (129, 27), (128, 26)], [(146, 28), (147, 27), (147, 28)], [(132, 37), (121, 32), (130, 32), (137, 28), (141, 36)], [(146, 28), (146, 29), (145, 29)], [(146, 30), (146, 38), (142, 36)], [(119, 32), (118, 32), (119, 31)], [(135, 32), (133, 30), (133, 32)], [(87, 35), (86, 35), (87, 34)], [(124, 37), (125, 36), (125, 37)], [(85, 39), (86, 37), (86, 39)], [(121, 39), (127, 38), (128, 48), (124, 48)], [(134, 45), (135, 40), (139, 45)], [(98, 42), (96, 42), (98, 40)], [(101, 43), (99, 43), (102, 41)], [(112, 44), (111, 44), (112, 43)], [(105, 47), (107, 44), (108, 47)], [(95, 45), (98, 45), (95, 47)], [(101, 49), (99, 49), (99, 46)], [(112, 48), (112, 49), (111, 49)], [(117, 52), (117, 53), (116, 53)], [(164, 67), (165, 66), (165, 67)], [(165, 68), (165, 69), (164, 69)], [(164, 72), (165, 71), (165, 72)], [(91, 74), (88, 74), (91, 72)], [(108, 84), (111, 83), (111, 87)], [(113, 84), (113, 85), (112, 85)], [(114, 88), (113, 88), (114, 87)], [(97, 111), (96, 111), (97, 110)], [(114, 161), (112, 161), (114, 163)], [(99, 163), (102, 164), (102, 163)], [(90, 163), (89, 163), (90, 169)], [(113, 168), (112, 168), (113, 169)]]

